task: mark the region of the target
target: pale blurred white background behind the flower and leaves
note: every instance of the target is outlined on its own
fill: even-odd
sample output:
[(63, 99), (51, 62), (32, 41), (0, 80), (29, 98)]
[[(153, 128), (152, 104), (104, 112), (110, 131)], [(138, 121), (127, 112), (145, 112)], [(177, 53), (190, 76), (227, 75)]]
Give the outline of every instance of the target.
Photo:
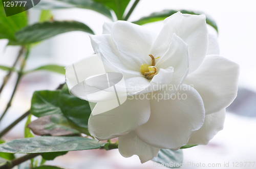
[[(44, 1), (44, 0), (41, 0)], [(130, 6), (134, 3), (131, 1)], [(128, 7), (129, 9), (129, 7)], [(238, 1), (172, 1), (172, 0), (141, 0), (135, 8), (129, 21), (135, 21), (153, 12), (164, 9), (192, 10), (204, 12), (211, 16), (218, 25), (219, 34), (208, 26), (209, 32), (219, 38), (220, 52), (223, 57), (240, 65), (239, 94), (237, 99), (227, 108), (224, 130), (220, 131), (207, 146), (196, 146), (183, 150), (184, 162), (221, 163), (218, 168), (233, 167), (232, 162), (256, 162), (256, 2)], [(30, 23), (38, 20), (40, 10), (33, 8), (30, 12)], [(127, 11), (126, 11), (127, 12)], [(86, 9), (58, 9), (52, 11), (55, 20), (77, 20), (86, 23), (95, 34), (101, 34), (104, 22), (111, 20), (99, 13)], [(159, 32), (163, 22), (148, 23), (143, 26)], [(0, 64), (12, 66), (19, 47), (8, 46), (8, 40), (0, 40)], [(26, 69), (33, 69), (46, 64), (69, 64), (92, 54), (93, 48), (87, 33), (69, 32), (48, 39), (31, 51)], [(0, 70), (0, 84), (6, 75)], [(13, 73), (0, 97), (0, 111), (3, 112), (15, 85), (17, 74)], [(30, 108), (32, 94), (36, 90), (54, 90), (60, 83), (65, 82), (65, 76), (37, 71), (27, 74), (21, 81), (13, 99), (13, 106), (4, 117), (0, 130), (11, 124)], [(32, 120), (34, 120), (32, 118)], [(26, 119), (16, 125), (7, 135), (6, 140), (23, 138)], [(224, 167), (229, 162), (229, 167)], [(137, 156), (122, 157), (118, 150), (87, 150), (69, 152), (59, 156), (47, 164), (59, 165), (74, 169), (98, 168), (157, 168), (153, 161), (143, 164)], [(256, 168), (240, 167), (239, 168)], [(159, 166), (160, 168), (163, 168)], [(187, 166), (187, 168), (195, 168)], [(200, 167), (199, 167), (200, 168)], [(202, 167), (203, 168), (203, 167)]]

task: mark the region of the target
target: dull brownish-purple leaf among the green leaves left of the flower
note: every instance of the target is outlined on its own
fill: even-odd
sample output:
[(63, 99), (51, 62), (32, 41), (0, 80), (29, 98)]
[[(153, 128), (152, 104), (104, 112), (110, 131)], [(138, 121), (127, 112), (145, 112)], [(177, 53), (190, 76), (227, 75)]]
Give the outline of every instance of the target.
[(71, 124), (71, 122), (60, 114), (40, 117), (31, 122), (28, 127), (36, 135), (60, 136), (80, 133), (75, 129), (76, 126), (74, 124)]

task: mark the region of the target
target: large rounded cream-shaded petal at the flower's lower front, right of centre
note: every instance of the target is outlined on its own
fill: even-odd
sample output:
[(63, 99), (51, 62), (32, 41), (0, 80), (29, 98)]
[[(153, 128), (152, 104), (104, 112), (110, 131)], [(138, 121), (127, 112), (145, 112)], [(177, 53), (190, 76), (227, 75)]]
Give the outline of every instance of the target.
[(182, 85), (174, 96), (176, 98), (169, 100), (160, 96), (150, 100), (150, 120), (135, 130), (143, 142), (158, 148), (176, 149), (187, 144), (189, 137), (201, 128), (205, 110), (199, 93)]

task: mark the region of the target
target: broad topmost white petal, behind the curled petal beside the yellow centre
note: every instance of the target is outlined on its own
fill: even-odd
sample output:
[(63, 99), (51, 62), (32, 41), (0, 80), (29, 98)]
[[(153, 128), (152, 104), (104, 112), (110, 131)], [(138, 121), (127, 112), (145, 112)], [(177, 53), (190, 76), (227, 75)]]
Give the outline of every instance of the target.
[(208, 30), (204, 15), (185, 15), (177, 12), (164, 20), (164, 26), (152, 46), (155, 57), (161, 57), (168, 49), (173, 34), (188, 44), (189, 73), (203, 62), (208, 48)]

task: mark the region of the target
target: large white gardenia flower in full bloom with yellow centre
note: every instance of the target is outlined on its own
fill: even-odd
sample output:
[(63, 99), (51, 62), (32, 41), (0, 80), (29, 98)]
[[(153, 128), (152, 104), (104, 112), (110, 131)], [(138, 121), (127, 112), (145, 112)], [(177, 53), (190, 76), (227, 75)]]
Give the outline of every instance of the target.
[[(68, 66), (69, 89), (104, 66), (123, 75), (128, 95), (120, 106), (90, 116), (91, 135), (118, 137), (120, 154), (136, 154), (143, 163), (160, 149), (207, 145), (223, 129), (225, 108), (237, 96), (239, 66), (219, 55), (204, 15), (178, 12), (164, 20), (159, 35), (127, 21), (105, 23), (103, 34), (90, 38), (102, 61), (95, 54)], [(93, 112), (104, 109), (102, 97), (95, 96)]]

